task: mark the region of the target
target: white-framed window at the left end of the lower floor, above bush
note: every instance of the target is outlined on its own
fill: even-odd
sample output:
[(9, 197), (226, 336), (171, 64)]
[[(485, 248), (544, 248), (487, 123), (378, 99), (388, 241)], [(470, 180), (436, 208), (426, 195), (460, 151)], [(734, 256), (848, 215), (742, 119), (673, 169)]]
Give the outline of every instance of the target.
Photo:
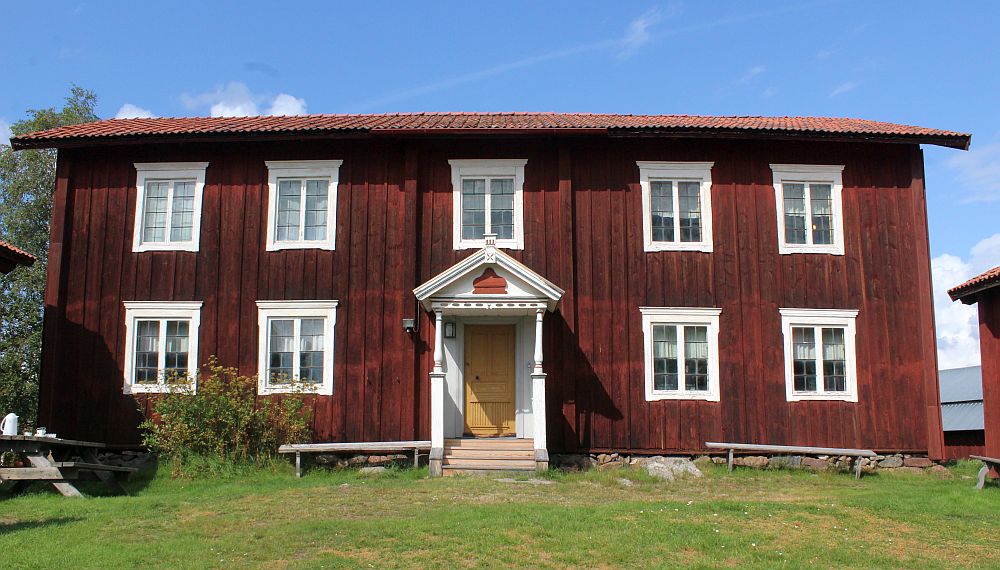
[(125, 301), (126, 394), (193, 388), (201, 301)]

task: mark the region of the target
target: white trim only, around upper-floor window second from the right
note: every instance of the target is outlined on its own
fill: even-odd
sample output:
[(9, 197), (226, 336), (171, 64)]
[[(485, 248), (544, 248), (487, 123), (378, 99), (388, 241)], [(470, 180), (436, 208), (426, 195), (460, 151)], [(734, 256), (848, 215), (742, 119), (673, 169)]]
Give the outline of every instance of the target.
[[(644, 251), (704, 251), (712, 252), (712, 166), (714, 162), (650, 162), (637, 161), (639, 186), (642, 189), (642, 237)], [(680, 180), (701, 181), (701, 241), (680, 241), (680, 222), (677, 221), (677, 241), (653, 241), (652, 188), (650, 181)], [(674, 186), (674, 219), (680, 220)]]

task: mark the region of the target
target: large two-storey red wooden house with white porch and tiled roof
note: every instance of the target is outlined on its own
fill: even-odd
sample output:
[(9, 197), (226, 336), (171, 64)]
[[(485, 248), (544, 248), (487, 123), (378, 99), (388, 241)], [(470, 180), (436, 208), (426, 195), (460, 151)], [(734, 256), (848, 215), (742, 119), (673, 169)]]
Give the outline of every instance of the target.
[(41, 422), (215, 355), (319, 441), (942, 454), (921, 144), (857, 119), (130, 119), (56, 147)]

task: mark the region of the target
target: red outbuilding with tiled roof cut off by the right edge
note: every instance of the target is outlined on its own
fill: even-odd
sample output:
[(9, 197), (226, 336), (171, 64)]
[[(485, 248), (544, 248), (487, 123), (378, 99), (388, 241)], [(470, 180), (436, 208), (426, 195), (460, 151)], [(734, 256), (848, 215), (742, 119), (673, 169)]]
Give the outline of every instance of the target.
[(989, 457), (1000, 457), (1000, 266), (948, 291), (952, 301), (979, 304), (983, 429)]

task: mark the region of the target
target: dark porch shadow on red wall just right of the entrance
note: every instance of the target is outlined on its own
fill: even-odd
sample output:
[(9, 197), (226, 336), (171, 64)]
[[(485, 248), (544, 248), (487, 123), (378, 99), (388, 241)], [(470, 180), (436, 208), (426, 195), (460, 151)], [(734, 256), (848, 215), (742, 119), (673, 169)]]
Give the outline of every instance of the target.
[[(558, 378), (559, 385), (550, 384), (549, 388), (550, 394), (558, 396), (550, 400), (556, 406), (550, 405), (548, 414), (550, 437), (553, 435), (551, 426), (559, 425), (562, 433), (555, 434), (553, 441), (558, 448), (566, 451), (590, 448), (594, 442), (594, 420), (597, 417), (617, 421), (625, 416), (598, 379), (590, 359), (580, 349), (579, 337), (569, 328), (562, 312), (551, 314), (545, 327), (546, 330), (554, 330), (556, 338), (560, 339), (559, 360), (554, 363), (559, 372), (558, 376), (553, 374)], [(573, 403), (576, 404), (576, 412), (574, 417), (569, 418), (563, 414), (563, 407)], [(558, 424), (553, 421), (556, 418), (559, 418)]]

